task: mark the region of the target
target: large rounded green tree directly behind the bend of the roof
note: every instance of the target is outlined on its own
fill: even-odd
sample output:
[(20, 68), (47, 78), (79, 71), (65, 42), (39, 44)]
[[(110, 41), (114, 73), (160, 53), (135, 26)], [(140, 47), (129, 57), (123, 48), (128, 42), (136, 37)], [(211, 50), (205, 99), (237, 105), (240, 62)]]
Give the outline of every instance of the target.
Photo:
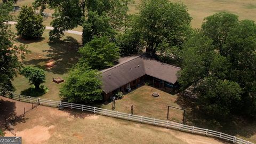
[(190, 32), (191, 17), (182, 3), (143, 0), (136, 17), (131, 29), (139, 31), (146, 51), (151, 54), (181, 49)]

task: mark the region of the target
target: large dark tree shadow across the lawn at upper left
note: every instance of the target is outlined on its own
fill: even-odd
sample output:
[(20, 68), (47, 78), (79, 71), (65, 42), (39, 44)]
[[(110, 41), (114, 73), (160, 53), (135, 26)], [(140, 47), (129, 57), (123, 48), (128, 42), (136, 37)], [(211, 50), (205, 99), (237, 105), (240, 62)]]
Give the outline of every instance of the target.
[[(63, 40), (50, 41), (48, 44), (50, 50), (44, 50), (43, 52), (47, 53), (45, 56), (49, 58), (29, 60), (26, 64), (44, 68), (53, 74), (65, 74), (78, 62), (78, 48), (81, 45), (75, 38), (68, 36)], [(51, 60), (54, 63), (50, 68), (39, 65), (41, 62), (47, 63)]]

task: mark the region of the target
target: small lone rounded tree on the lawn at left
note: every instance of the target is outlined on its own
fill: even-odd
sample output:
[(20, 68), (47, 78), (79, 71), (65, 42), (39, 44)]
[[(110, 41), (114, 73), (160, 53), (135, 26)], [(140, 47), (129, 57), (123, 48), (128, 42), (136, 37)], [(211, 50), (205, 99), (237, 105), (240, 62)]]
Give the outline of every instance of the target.
[(30, 84), (35, 85), (35, 89), (40, 89), (40, 84), (45, 82), (45, 71), (41, 68), (26, 67), (21, 70), (21, 74), (28, 78)]

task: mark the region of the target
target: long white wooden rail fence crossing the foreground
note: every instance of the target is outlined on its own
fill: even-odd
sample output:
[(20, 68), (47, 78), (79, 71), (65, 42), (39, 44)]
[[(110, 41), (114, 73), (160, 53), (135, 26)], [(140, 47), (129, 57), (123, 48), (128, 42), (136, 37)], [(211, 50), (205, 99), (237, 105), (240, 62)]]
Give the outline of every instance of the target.
[(43, 105), (43, 106), (50, 106), (50, 107), (63, 106), (66, 108), (71, 108), (71, 109), (80, 109), (82, 111), (91, 111), (94, 114), (106, 115), (106, 116), (110, 116), (110, 117), (117, 117), (117, 118), (129, 120), (129, 121), (151, 124), (151, 125), (156, 125), (156, 126), (162, 126), (162, 127), (176, 129), (176, 130), (189, 132), (189, 133), (193, 133), (193, 134), (195, 133), (195, 134), (201, 134), (201, 135), (205, 135), (205, 136), (215, 137), (215, 138), (227, 140), (227, 141), (230, 141), (233, 143), (253, 144), (250, 141), (246, 141), (246, 140), (237, 138), (235, 136), (217, 132), (217, 131), (202, 129), (202, 128), (195, 127), (195, 126), (189, 126), (189, 125), (184, 125), (184, 124), (175, 123), (175, 122), (171, 122), (171, 121), (164, 121), (164, 120), (155, 119), (155, 118), (120, 113), (118, 111), (112, 111), (112, 110), (102, 109), (102, 108), (98, 108), (98, 107), (79, 105), (76, 103), (68, 103), (68, 102), (62, 102), (62, 101), (46, 100), (46, 99), (34, 98), (34, 97), (29, 97), (29, 96), (19, 95), (19, 94), (12, 94), (12, 99), (23, 101), (23, 102), (30, 102), (30, 103), (38, 101), (38, 104)]

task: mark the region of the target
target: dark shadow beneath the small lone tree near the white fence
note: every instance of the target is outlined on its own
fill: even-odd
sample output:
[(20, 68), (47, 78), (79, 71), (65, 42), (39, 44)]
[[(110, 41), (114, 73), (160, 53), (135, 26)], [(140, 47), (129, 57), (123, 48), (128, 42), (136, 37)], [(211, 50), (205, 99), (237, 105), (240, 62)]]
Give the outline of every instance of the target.
[(47, 93), (49, 90), (44, 85), (40, 86), (39, 90), (36, 90), (35, 87), (29, 87), (27, 90), (21, 91), (21, 95), (27, 95), (31, 97), (41, 97), (45, 93)]

